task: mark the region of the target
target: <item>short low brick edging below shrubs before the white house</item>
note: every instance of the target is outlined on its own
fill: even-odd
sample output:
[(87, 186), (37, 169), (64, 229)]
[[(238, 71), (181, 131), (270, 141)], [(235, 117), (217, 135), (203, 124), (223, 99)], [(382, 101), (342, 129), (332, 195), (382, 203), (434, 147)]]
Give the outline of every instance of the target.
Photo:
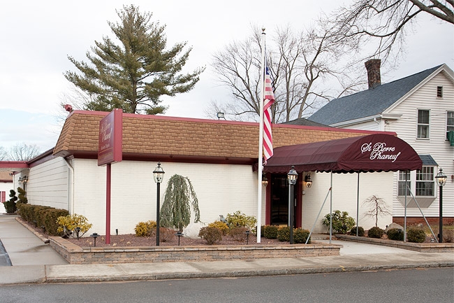
[(409, 251), (418, 251), (419, 253), (453, 253), (454, 243), (411, 243), (404, 241), (395, 241), (389, 239), (376, 239), (369, 237), (356, 237), (347, 234), (336, 234), (337, 239), (395, 248), (407, 249)]

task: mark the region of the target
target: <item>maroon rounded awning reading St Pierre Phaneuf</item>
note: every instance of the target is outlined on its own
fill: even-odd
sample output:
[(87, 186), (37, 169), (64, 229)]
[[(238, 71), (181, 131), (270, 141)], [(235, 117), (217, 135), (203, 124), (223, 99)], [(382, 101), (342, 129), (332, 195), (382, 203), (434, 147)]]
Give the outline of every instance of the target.
[(263, 171), (332, 171), (353, 173), (421, 169), (423, 161), (409, 144), (397, 136), (371, 134), (274, 148)]

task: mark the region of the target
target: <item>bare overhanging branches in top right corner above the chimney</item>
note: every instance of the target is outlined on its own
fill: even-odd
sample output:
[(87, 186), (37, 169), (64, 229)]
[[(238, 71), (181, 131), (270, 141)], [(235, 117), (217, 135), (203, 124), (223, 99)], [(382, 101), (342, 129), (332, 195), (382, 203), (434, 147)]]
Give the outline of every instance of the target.
[(358, 45), (375, 43), (369, 57), (388, 59), (393, 50), (402, 53), (407, 28), (417, 22), (420, 13), (454, 24), (454, 1), (445, 0), (356, 0), (353, 5), (335, 11), (328, 20), (339, 39)]

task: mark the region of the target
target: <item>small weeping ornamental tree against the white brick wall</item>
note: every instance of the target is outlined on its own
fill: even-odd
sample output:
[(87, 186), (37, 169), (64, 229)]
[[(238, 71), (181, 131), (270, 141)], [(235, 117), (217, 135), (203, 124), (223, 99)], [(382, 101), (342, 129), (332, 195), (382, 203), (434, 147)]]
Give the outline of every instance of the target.
[(177, 228), (180, 232), (189, 225), (191, 206), (194, 223), (200, 222), (198, 199), (189, 178), (173, 175), (168, 181), (164, 202), (161, 207), (161, 226)]

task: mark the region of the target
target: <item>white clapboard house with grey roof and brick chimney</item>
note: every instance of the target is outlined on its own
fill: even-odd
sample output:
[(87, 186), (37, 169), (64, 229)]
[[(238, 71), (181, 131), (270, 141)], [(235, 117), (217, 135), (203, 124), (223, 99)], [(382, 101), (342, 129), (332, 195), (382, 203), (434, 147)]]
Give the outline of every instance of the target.
[[(442, 64), (411, 76), (381, 83), (380, 60), (365, 63), (369, 89), (330, 101), (309, 120), (342, 129), (395, 132), (423, 160), (423, 169), (407, 176), (409, 223), (422, 215), (438, 224), (439, 188), (434, 179), (443, 169), (448, 182), (443, 188), (445, 224), (454, 223), (454, 73)], [(393, 217), (403, 223), (405, 172), (395, 173)], [(415, 203), (411, 195), (416, 196)]]

